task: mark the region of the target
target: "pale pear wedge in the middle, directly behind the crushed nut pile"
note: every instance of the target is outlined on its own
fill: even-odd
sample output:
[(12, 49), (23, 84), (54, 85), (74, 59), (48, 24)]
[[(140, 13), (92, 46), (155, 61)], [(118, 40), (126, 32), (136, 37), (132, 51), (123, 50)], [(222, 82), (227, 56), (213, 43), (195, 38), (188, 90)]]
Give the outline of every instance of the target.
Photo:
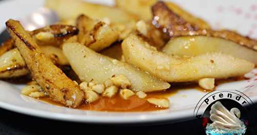
[(133, 90), (150, 92), (170, 87), (167, 82), (156, 79), (127, 63), (96, 53), (79, 43), (64, 44), (63, 52), (81, 81), (94, 80), (103, 83), (114, 75), (123, 74), (131, 81)]

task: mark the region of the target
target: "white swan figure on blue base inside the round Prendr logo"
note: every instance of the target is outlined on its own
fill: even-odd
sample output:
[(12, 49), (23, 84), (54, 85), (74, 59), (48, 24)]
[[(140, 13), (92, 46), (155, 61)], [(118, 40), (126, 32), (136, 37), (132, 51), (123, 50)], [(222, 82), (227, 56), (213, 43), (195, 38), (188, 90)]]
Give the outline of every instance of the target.
[(240, 120), (240, 116), (241, 112), (239, 109), (232, 108), (229, 111), (221, 102), (216, 102), (211, 106), (210, 119), (213, 123), (208, 123), (206, 134), (243, 135), (246, 131), (246, 126)]

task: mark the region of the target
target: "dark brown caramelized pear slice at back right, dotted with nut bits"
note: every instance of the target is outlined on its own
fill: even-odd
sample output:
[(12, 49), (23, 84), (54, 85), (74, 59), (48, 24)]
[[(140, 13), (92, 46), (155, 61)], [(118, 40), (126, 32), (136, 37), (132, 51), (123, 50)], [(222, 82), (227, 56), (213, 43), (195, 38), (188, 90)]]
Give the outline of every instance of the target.
[(163, 2), (156, 3), (152, 7), (152, 11), (154, 15), (153, 24), (164, 33), (167, 33), (170, 37), (193, 35), (219, 37), (244, 47), (257, 50), (257, 41), (229, 30), (215, 31), (212, 29), (201, 29), (197, 25), (183, 20), (183, 18), (175, 14)]

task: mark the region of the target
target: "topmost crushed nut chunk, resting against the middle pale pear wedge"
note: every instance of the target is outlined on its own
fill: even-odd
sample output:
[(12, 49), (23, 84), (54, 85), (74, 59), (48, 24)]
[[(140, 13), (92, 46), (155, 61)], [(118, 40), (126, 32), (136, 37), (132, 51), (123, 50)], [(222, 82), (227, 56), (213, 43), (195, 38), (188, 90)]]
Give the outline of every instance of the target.
[(131, 82), (128, 80), (124, 75), (118, 75), (111, 78), (111, 81), (114, 83), (115, 86), (121, 87), (123, 89), (130, 87)]

